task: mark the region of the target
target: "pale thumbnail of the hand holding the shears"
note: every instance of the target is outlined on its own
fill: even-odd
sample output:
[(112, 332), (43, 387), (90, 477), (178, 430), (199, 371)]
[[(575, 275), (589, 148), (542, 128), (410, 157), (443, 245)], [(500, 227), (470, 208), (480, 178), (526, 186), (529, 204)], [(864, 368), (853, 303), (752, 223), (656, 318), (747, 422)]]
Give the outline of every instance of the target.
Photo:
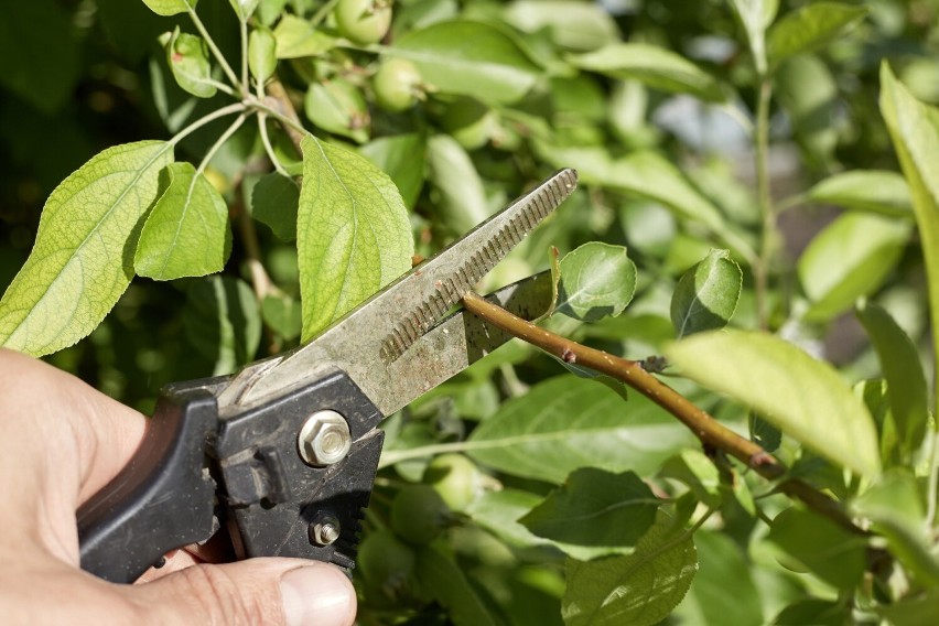
[(355, 592), (346, 575), (324, 563), (290, 570), (280, 580), (288, 626), (348, 626), (355, 618)]

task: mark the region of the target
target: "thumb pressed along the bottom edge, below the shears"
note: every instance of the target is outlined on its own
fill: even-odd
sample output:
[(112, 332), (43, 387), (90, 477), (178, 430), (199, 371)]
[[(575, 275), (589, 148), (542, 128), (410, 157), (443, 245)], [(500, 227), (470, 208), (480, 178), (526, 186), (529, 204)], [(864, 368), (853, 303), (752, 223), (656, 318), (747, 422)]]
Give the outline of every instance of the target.
[(348, 626), (356, 613), (339, 569), (299, 559), (202, 563), (127, 589), (159, 623)]

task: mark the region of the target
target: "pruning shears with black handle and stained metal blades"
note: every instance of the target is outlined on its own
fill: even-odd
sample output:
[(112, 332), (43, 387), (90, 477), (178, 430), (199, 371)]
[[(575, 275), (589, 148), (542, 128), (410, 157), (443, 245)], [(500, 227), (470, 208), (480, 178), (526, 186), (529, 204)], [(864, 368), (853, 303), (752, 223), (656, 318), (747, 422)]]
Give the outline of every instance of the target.
[[(451, 309), (575, 186), (573, 170), (557, 172), (291, 352), (164, 387), (133, 458), (77, 511), (82, 568), (130, 583), (225, 528), (236, 558), (350, 571), (378, 424), (511, 338)], [(551, 279), (487, 298), (532, 319)]]

